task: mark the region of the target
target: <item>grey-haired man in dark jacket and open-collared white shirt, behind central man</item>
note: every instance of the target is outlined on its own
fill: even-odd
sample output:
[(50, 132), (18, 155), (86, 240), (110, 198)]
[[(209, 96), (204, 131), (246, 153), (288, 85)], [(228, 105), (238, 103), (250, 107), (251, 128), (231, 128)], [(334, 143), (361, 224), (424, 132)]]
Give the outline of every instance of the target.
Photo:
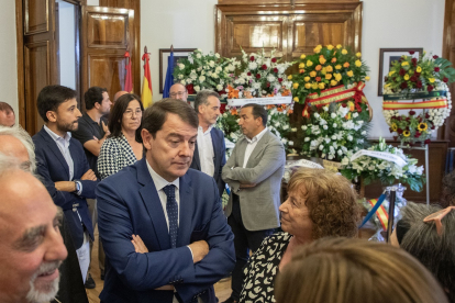
[(213, 127), (220, 115), (220, 96), (212, 90), (199, 91), (195, 100), (195, 110), (198, 113), (199, 127), (190, 167), (213, 177), (221, 197), (225, 186), (221, 172), (226, 164), (226, 147), (223, 132)]

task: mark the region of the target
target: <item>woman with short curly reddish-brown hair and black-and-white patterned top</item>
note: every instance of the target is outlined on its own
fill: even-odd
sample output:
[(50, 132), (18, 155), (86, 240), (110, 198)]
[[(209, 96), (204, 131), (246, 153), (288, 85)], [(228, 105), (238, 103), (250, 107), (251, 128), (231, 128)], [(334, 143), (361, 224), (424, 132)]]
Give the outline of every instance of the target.
[(245, 268), (240, 302), (275, 302), (275, 278), (296, 248), (322, 237), (355, 237), (359, 220), (356, 192), (341, 175), (301, 168), (288, 183), (279, 207), (284, 233), (264, 239)]

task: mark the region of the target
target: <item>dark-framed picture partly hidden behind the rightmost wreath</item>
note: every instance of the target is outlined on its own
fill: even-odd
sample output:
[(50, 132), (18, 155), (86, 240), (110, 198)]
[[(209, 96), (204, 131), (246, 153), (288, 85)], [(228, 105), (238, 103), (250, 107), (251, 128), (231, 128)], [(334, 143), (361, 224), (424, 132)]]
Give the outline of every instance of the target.
[[(414, 52), (412, 55), (409, 52)], [(380, 48), (379, 49), (379, 80), (378, 80), (378, 96), (382, 96), (382, 88), (385, 85), (384, 78), (389, 75), (390, 65), (397, 61), (402, 55), (419, 58), (422, 54), (423, 47), (417, 48)]]

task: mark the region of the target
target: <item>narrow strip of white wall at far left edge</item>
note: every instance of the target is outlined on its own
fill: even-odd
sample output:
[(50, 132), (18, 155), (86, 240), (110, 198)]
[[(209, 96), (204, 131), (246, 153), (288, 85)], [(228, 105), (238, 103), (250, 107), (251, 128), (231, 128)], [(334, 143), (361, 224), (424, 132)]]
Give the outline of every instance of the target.
[(11, 104), (19, 122), (15, 2), (2, 1), (0, 10), (0, 101)]

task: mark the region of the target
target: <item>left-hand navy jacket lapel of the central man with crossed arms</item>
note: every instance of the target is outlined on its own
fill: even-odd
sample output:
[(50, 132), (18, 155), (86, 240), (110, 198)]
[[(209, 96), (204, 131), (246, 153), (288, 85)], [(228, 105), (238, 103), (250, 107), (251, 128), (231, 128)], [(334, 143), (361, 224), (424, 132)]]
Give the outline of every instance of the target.
[(137, 181), (144, 186), (140, 189), (140, 194), (151, 216), (151, 223), (155, 231), (155, 237), (158, 239), (159, 247), (160, 249), (168, 249), (170, 248), (169, 231), (167, 229), (163, 205), (148, 171), (145, 157), (137, 162)]

